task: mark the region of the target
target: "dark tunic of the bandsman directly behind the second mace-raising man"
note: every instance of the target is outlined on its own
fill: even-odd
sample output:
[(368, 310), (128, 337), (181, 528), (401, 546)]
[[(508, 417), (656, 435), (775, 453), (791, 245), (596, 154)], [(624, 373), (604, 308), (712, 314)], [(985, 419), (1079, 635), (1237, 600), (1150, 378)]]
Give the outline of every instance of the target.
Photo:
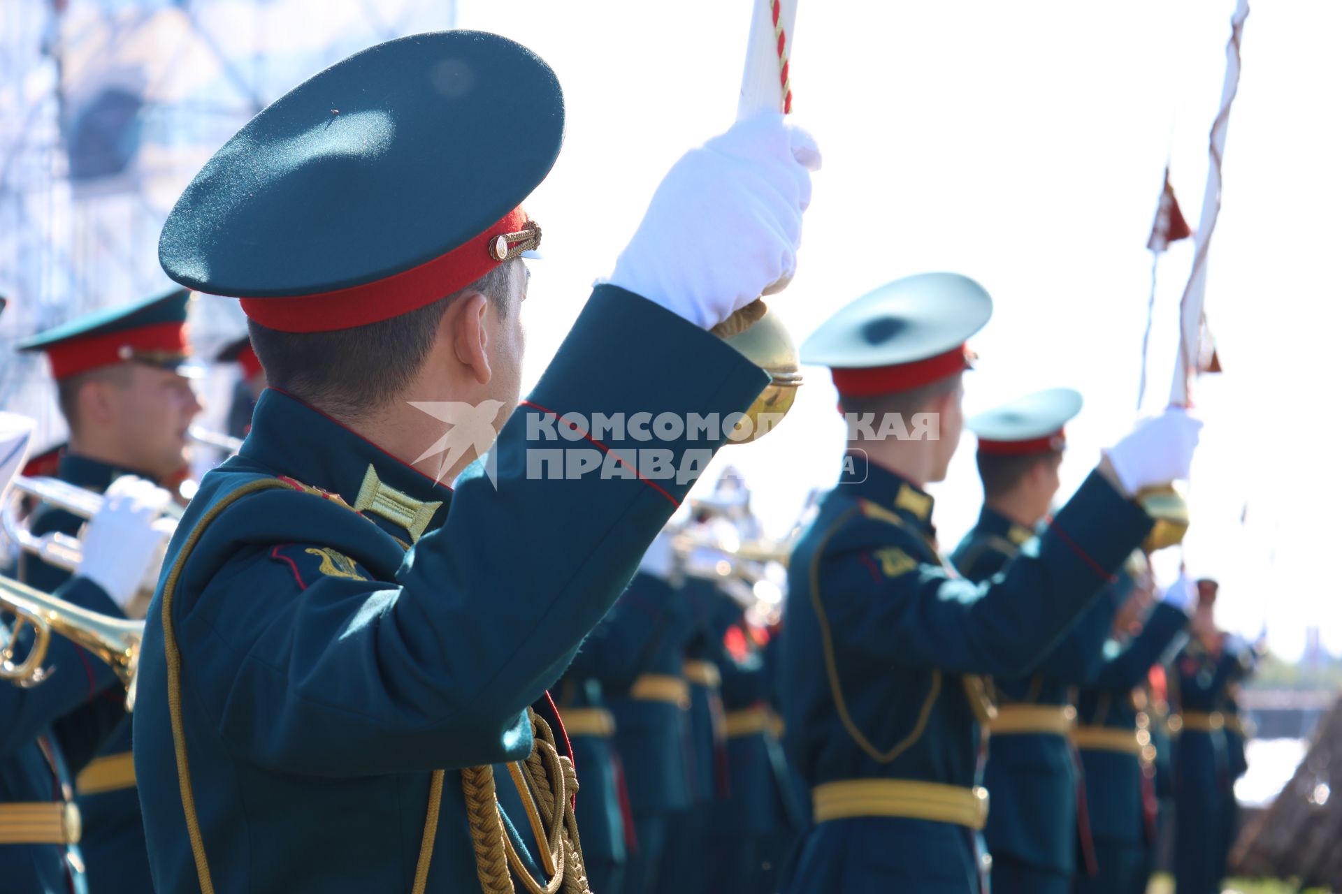
[[(950, 560), (965, 578), (981, 583), (1001, 574), (1023, 548), (1032, 554), (1033, 537), (1029, 528), (985, 505)], [(1028, 677), (994, 677), (998, 709), (1070, 708), (1075, 688), (1099, 670), (1118, 595), (1111, 587), (1098, 599)], [(984, 836), (993, 858), (994, 894), (1067, 894), (1078, 871), (1079, 784), (1066, 735), (993, 733), (984, 771), (992, 797)]]

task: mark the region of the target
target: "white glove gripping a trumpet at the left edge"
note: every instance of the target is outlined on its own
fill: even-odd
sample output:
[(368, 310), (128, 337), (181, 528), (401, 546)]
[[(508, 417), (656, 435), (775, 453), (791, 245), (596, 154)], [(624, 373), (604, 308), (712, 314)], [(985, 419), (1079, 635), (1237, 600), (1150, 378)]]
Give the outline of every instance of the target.
[(79, 536), (83, 558), (76, 574), (102, 587), (121, 609), (146, 578), (158, 579), (162, 546), (172, 535), (172, 523), (161, 516), (170, 500), (162, 488), (122, 476), (107, 488), (102, 508)]

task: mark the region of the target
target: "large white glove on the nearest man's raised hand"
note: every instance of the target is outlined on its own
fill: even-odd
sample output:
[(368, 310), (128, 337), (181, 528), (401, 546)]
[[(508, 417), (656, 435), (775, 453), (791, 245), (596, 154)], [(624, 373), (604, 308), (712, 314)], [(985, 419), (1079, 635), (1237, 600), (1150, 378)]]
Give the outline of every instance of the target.
[(820, 150), (766, 113), (691, 149), (663, 178), (611, 284), (713, 328), (797, 269)]

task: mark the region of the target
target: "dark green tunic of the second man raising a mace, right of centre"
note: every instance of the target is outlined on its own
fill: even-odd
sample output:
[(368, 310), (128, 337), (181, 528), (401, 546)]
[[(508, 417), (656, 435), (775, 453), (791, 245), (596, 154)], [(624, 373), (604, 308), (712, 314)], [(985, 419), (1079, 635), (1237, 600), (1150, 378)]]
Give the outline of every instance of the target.
[[(789, 757), (813, 791), (845, 780), (968, 791), (978, 780), (984, 717), (976, 674), (1028, 674), (1150, 519), (1092, 474), (1037, 556), (976, 586), (942, 567), (931, 497), (876, 465), (863, 480), (858, 466), (845, 465), (789, 567)], [(817, 818), (821, 807), (817, 797)], [(784, 890), (964, 894), (980, 890), (980, 871), (969, 824), (866, 814), (817, 822)]]

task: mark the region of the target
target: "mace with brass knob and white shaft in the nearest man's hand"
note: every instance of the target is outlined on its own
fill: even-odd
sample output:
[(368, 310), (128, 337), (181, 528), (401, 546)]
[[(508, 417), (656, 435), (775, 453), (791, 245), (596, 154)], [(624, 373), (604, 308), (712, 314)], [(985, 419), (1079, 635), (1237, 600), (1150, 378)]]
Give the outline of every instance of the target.
[[(737, 121), (764, 111), (792, 111), (788, 58), (796, 17), (797, 0), (754, 0)], [(781, 279), (765, 288), (764, 295), (781, 292), (788, 283), (789, 279)], [(764, 303), (762, 295), (718, 324), (714, 332), (769, 374), (769, 385), (746, 410), (749, 432), (745, 422), (738, 422), (727, 444), (757, 441), (773, 430), (797, 399), (797, 386), (801, 385), (797, 346), (778, 315)]]

